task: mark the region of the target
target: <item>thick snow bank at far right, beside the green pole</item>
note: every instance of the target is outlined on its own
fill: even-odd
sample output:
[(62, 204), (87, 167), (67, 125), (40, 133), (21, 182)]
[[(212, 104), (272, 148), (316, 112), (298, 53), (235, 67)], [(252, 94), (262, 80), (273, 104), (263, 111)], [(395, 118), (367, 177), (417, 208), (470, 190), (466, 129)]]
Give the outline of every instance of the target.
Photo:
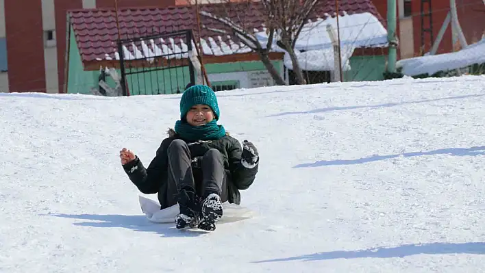
[(464, 68), (472, 64), (485, 63), (485, 38), (475, 44), (470, 44), (464, 49), (439, 55), (425, 55), (399, 60), (396, 67), (402, 68), (402, 73), (407, 76), (420, 74), (433, 75), (438, 71)]

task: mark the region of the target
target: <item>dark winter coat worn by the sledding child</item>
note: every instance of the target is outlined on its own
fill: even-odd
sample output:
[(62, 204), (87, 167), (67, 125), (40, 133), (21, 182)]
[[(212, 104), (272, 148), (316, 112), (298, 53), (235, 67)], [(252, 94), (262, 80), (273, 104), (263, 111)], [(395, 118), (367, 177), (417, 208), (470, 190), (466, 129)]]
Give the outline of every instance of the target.
[[(158, 200), (162, 209), (170, 207), (170, 202), (166, 200), (166, 184), (169, 181), (169, 165), (167, 149), (173, 140), (180, 138), (173, 129), (169, 130), (169, 137), (162, 141), (160, 148), (158, 148), (155, 158), (151, 161), (148, 168), (145, 168), (136, 157), (136, 159), (128, 164), (123, 165), (125, 172), (129, 179), (138, 187), (138, 190), (144, 194), (158, 193)], [(186, 140), (184, 140), (186, 141)], [(191, 143), (186, 141), (187, 144)], [(235, 138), (226, 133), (223, 138), (219, 140), (205, 141), (195, 143), (189, 146), (190, 156), (193, 158), (203, 156), (210, 148), (216, 148), (221, 152), (224, 159), (225, 179), (227, 183), (227, 199), (229, 203), (240, 204), (239, 190), (246, 190), (256, 178), (258, 172), (258, 165), (254, 168), (245, 168), (241, 164), (242, 148), (240, 143)], [(132, 170), (134, 170), (132, 172)], [(198, 177), (194, 177), (197, 179)], [(201, 183), (201, 181), (195, 181)]]

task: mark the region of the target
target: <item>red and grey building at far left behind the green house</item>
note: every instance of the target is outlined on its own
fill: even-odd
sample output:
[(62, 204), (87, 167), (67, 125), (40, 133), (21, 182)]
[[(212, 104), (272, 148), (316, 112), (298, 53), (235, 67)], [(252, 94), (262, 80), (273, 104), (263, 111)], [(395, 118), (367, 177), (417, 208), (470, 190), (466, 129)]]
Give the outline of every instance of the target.
[[(122, 8), (184, 0), (118, 2)], [(0, 92), (63, 92), (66, 11), (113, 6), (114, 0), (0, 0)]]

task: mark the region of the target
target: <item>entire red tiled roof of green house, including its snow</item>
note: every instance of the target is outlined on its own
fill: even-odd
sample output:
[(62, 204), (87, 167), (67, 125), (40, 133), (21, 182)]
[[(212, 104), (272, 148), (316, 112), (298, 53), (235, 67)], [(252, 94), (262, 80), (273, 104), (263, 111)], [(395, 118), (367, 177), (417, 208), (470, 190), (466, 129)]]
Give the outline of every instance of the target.
[[(235, 4), (236, 5), (236, 4)], [(382, 47), (386, 44), (385, 23), (370, 0), (360, 0), (359, 3), (343, 0), (340, 3), (340, 38), (345, 44), (356, 44), (356, 47)], [(260, 4), (251, 5), (245, 10), (245, 27), (254, 29), (258, 40), (267, 39), (264, 18), (259, 16)], [(216, 5), (204, 5), (201, 12), (211, 14), (216, 12)], [(345, 12), (347, 11), (347, 12)], [(258, 13), (259, 12), (259, 13)], [(142, 34), (154, 35), (191, 29), (197, 25), (193, 7), (171, 8), (125, 8), (119, 10), (119, 24), (122, 38), (133, 38)], [(259, 14), (259, 15), (258, 15)], [(90, 9), (69, 11), (70, 23), (73, 27), (79, 53), (83, 61), (119, 60), (120, 53), (116, 41), (116, 16), (112, 9)], [(325, 49), (329, 47), (329, 37), (326, 25), (330, 23), (336, 28), (336, 18), (332, 5), (321, 3), (316, 5), (311, 20), (301, 32), (297, 42), (298, 50)], [(382, 22), (382, 23), (381, 23)], [(232, 33), (223, 24), (217, 23), (208, 16), (201, 16), (201, 46), (205, 55), (228, 55), (247, 53), (251, 49), (242, 44), (241, 37)], [(197, 36), (197, 31), (194, 33)], [(195, 37), (198, 43), (198, 37)], [(193, 44), (193, 43), (192, 43)], [(123, 47), (126, 59), (156, 57), (173, 53), (187, 47), (183, 39), (136, 41)], [(273, 45), (274, 51), (283, 50)], [(186, 57), (177, 54), (173, 57)]]

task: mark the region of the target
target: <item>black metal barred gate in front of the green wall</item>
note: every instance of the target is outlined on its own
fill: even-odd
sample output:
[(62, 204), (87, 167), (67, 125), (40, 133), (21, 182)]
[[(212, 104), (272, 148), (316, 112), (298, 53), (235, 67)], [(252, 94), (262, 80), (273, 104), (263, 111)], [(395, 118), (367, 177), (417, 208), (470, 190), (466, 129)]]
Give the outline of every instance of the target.
[(124, 96), (180, 93), (195, 83), (191, 30), (120, 40), (118, 50)]

